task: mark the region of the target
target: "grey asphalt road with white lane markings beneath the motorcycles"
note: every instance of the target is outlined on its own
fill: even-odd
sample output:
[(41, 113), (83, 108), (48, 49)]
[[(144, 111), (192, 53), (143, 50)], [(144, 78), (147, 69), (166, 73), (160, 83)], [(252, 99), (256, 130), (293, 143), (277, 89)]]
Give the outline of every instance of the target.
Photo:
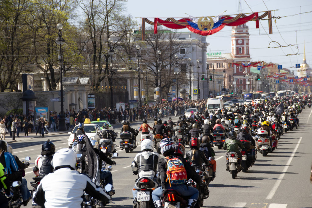
[[(225, 151), (215, 148), (217, 177), (209, 185), (210, 196), (204, 201), (203, 207), (312, 207), (312, 184), (309, 182), (312, 162), (311, 114), (311, 109), (304, 109), (299, 117), (298, 130), (282, 135), (277, 150), (267, 157), (258, 154), (255, 165), (246, 173), (239, 172), (236, 179), (232, 179), (231, 174), (225, 170)], [(149, 120), (149, 124), (151, 123)], [(131, 127), (138, 128), (140, 124), (141, 122), (135, 122)], [(115, 131), (120, 132), (120, 127), (115, 125)], [(140, 136), (141, 134), (137, 140)], [(61, 133), (48, 135), (46, 138), (20, 138), (20, 141), (11, 143), (13, 153), (20, 159), (31, 156), (33, 162), (47, 138), (56, 145), (56, 149), (67, 147), (68, 134)], [(119, 139), (116, 144), (119, 145)], [(113, 196), (115, 204), (108, 207), (132, 207), (131, 189), (136, 176), (132, 174), (130, 165), (139, 151), (140, 147), (129, 153), (118, 149), (119, 158), (115, 159), (117, 165), (113, 166), (112, 171), (116, 190)], [(31, 181), (33, 176), (30, 166), (26, 170), (27, 181)]]

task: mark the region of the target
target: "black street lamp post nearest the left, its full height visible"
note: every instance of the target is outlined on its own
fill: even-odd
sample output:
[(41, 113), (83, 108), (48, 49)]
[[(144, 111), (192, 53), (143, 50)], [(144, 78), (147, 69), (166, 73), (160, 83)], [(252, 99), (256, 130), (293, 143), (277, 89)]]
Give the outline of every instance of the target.
[(63, 90), (63, 54), (62, 54), (62, 45), (65, 43), (65, 40), (62, 38), (62, 29), (63, 25), (58, 23), (56, 28), (59, 30), (58, 37), (56, 38), (56, 44), (60, 45), (60, 79), (61, 79), (61, 115), (60, 115), (60, 123), (59, 123), (59, 131), (66, 131), (65, 126), (65, 115), (64, 115), (64, 90)]

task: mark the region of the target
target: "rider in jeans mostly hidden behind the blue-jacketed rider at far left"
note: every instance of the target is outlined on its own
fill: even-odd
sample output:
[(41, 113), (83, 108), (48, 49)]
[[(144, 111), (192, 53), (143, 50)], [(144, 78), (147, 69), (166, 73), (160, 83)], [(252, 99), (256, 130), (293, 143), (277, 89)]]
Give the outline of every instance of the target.
[[(11, 145), (7, 145), (7, 152), (9, 152), (11, 155), (13, 154), (13, 148)], [(25, 163), (22, 163), (19, 158), (16, 156), (16, 155), (12, 155), (14, 157), (14, 160), (17, 164), (17, 167), (18, 169), (21, 171), (21, 170), (25, 170), (25, 168), (27, 168), (29, 166), (29, 162), (25, 162)], [(28, 201), (30, 200), (30, 192), (27, 188), (27, 180), (26, 178), (22, 177), (22, 181), (21, 181), (21, 193), (22, 193), (22, 196), (23, 196), (23, 205), (24, 206), (27, 206), (28, 204)]]

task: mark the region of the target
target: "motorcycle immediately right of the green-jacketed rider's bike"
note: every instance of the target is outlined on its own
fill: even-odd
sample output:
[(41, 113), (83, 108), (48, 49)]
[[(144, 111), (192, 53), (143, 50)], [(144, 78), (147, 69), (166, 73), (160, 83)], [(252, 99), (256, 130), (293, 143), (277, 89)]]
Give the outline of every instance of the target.
[(248, 140), (241, 140), (244, 149), (241, 150), (242, 161), (241, 171), (247, 172), (257, 159), (257, 152), (254, 148), (251, 149), (251, 143)]

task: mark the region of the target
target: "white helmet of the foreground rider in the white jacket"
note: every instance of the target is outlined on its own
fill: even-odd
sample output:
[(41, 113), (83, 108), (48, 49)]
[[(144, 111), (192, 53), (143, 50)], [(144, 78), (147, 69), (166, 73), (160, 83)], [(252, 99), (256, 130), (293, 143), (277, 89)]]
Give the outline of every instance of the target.
[(54, 170), (57, 170), (58, 167), (71, 167), (75, 170), (76, 162), (76, 153), (72, 149), (63, 148), (54, 153), (51, 164)]

